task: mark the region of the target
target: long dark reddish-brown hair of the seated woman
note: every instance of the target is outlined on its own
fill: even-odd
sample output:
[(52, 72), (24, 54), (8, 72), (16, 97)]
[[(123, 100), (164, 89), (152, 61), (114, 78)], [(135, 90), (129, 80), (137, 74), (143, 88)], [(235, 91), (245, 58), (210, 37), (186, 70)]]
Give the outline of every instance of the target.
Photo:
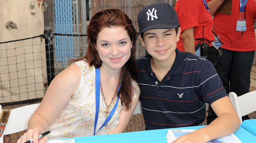
[(121, 87), (119, 89), (119, 92), (117, 93), (119, 95), (119, 98), (121, 99), (121, 103), (125, 104), (126, 109), (129, 110), (131, 108), (131, 103), (133, 99), (133, 86), (131, 79), (136, 81), (137, 77), (137, 66), (135, 61), (137, 39), (136, 30), (132, 24), (132, 20), (125, 12), (120, 9), (112, 8), (95, 13), (87, 29), (87, 53), (83, 58), (73, 61), (87, 60), (90, 66), (94, 65), (96, 68), (100, 68), (102, 66), (102, 61), (99, 58), (99, 54), (96, 50), (96, 40), (98, 38), (98, 33), (103, 28), (111, 28), (117, 26), (123, 27), (127, 31), (130, 40), (132, 41), (131, 56), (128, 61), (123, 65), (119, 74)]

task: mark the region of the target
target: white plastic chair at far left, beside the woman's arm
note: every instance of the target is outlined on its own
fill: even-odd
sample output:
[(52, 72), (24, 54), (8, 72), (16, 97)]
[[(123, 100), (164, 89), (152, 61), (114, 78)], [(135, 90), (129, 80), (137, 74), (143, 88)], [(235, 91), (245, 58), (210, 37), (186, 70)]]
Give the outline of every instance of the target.
[[(39, 105), (40, 103), (37, 103), (37, 104), (31, 104), (31, 105), (11, 109), (9, 119), (5, 126), (4, 132), (0, 138), (0, 143), (3, 143), (4, 135), (9, 135), (9, 134), (18, 133), (18, 132), (27, 130), (29, 119)], [(2, 106), (1, 106), (1, 110), (2, 110)]]

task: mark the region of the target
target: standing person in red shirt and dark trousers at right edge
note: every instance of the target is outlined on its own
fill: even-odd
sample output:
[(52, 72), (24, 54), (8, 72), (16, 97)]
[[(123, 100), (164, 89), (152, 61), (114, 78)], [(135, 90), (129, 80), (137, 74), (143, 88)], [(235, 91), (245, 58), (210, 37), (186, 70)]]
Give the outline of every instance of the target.
[[(256, 19), (256, 1), (244, 0), (242, 2), (245, 7), (240, 9), (240, 1), (233, 0), (231, 15), (215, 13), (224, 0), (207, 0), (207, 2), (210, 12), (214, 14), (215, 33), (220, 36), (224, 43), (222, 45), (223, 54), (214, 67), (227, 94), (235, 92), (238, 96), (241, 96), (249, 92), (250, 71), (256, 50), (253, 27)], [(245, 19), (245, 31), (237, 31), (239, 30), (237, 22), (240, 18)], [(207, 123), (211, 123), (216, 118), (216, 114), (209, 106)], [(249, 119), (248, 115), (242, 117), (242, 120), (245, 119)]]

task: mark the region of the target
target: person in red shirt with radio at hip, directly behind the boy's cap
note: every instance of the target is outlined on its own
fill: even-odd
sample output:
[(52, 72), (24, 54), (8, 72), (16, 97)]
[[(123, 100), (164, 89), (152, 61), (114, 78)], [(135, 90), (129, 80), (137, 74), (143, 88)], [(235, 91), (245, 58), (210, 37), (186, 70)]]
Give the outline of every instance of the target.
[(214, 41), (214, 34), (212, 32), (213, 19), (204, 6), (203, 0), (178, 0), (175, 10), (177, 11), (181, 25), (181, 35), (180, 40), (177, 42), (177, 48), (180, 51), (202, 56), (200, 52), (201, 48), (195, 51), (196, 45), (203, 37), (204, 42), (207, 42), (209, 46)]

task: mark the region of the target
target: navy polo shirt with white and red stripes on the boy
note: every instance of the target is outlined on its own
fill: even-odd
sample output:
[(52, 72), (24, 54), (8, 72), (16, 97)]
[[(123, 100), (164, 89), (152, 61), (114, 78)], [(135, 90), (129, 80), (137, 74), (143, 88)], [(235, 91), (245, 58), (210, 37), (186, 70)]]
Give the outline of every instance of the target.
[(159, 81), (150, 55), (136, 59), (146, 130), (202, 125), (206, 103), (227, 96), (211, 62), (176, 48), (172, 68)]

